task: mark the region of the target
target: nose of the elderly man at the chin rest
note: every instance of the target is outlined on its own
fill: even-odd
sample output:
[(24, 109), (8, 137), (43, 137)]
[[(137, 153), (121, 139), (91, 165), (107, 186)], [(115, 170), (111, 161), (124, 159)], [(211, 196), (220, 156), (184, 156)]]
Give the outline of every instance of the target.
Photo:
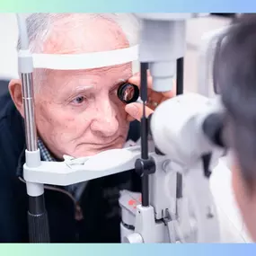
[(105, 137), (115, 135), (119, 129), (119, 121), (113, 104), (104, 100), (94, 110), (96, 113), (91, 125), (92, 130), (102, 133)]

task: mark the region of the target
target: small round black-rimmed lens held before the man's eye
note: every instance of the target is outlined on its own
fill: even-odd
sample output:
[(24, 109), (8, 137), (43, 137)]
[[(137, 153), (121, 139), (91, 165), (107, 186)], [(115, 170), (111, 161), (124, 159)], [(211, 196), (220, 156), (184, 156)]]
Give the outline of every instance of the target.
[(121, 102), (126, 104), (137, 102), (139, 97), (139, 89), (135, 84), (121, 84), (118, 89), (118, 97)]

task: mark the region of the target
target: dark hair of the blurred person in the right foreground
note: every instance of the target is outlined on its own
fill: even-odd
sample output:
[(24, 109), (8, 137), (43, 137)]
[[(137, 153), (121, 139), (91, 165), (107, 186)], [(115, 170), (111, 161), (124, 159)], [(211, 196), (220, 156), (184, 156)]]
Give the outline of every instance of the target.
[(227, 110), (228, 144), (244, 179), (256, 184), (256, 13), (244, 14), (219, 40), (214, 81)]

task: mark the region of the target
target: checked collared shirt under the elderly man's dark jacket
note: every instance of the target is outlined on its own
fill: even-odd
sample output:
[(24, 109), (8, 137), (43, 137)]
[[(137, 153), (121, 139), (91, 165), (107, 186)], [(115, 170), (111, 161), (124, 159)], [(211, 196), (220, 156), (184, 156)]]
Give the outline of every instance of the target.
[[(46, 161), (46, 162), (57, 161), (54, 157), (51, 156), (51, 154), (49, 153), (49, 150), (44, 145), (44, 143), (40, 140), (40, 138), (38, 139), (38, 146), (40, 149), (40, 155), (41, 155), (42, 161)], [(81, 194), (84, 191), (85, 186), (86, 186), (86, 182), (81, 182), (81, 183), (73, 184), (70, 186), (66, 186), (66, 190), (69, 193), (71, 193), (75, 197), (75, 199), (78, 201), (80, 199)]]

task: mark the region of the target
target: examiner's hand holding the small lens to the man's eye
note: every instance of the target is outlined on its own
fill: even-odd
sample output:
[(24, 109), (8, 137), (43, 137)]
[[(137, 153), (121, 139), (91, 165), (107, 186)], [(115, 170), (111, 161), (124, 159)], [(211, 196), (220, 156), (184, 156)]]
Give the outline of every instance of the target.
[[(140, 87), (140, 74), (132, 76), (128, 83), (135, 84)], [(171, 99), (176, 94), (176, 84), (173, 83), (172, 91), (165, 93), (157, 93), (152, 90), (152, 76), (147, 72), (147, 103), (146, 103), (146, 117), (154, 112), (154, 109), (161, 102)], [(129, 103), (126, 105), (125, 110), (128, 113), (128, 121), (137, 119), (140, 121), (143, 115), (143, 104), (138, 102)]]

